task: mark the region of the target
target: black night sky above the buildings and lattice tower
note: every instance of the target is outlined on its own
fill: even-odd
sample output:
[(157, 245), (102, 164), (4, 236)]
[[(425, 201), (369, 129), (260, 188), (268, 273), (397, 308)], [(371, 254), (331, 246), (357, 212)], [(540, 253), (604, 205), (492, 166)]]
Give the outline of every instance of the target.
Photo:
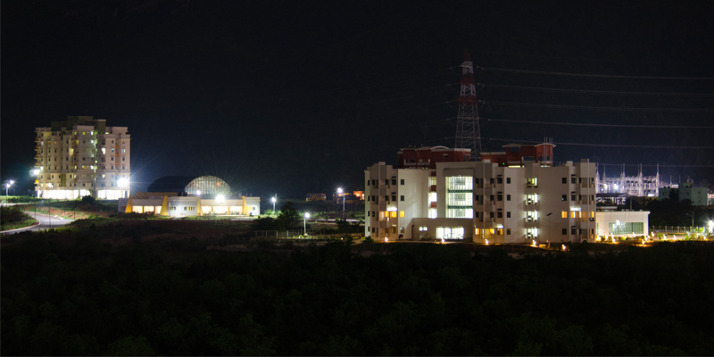
[(482, 104), (485, 151), (552, 137), (590, 144), (556, 161), (714, 181), (714, 129), (652, 128), (714, 125), (714, 80), (681, 79), (714, 78), (714, 2), (344, 3), (4, 1), (2, 179), (29, 184), (36, 127), (92, 115), (129, 127), (133, 189), (201, 174), (253, 195), (361, 189), (400, 147), (453, 145), (469, 49), (489, 69), (648, 77), (479, 70), (478, 99), (549, 105)]

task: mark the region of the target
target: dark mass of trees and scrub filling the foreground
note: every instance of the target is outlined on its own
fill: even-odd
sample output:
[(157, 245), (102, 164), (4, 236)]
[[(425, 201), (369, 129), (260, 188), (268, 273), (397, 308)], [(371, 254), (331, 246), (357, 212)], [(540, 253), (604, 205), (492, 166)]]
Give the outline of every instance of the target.
[(343, 242), (2, 249), (2, 354), (711, 355), (714, 246), (509, 256)]

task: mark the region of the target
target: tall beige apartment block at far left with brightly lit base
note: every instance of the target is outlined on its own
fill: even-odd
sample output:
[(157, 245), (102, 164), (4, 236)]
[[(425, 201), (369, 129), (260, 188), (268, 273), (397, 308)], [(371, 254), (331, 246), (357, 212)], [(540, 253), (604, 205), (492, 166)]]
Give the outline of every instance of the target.
[(74, 116), (35, 131), (38, 197), (129, 196), (131, 137), (127, 127), (107, 127), (104, 119)]

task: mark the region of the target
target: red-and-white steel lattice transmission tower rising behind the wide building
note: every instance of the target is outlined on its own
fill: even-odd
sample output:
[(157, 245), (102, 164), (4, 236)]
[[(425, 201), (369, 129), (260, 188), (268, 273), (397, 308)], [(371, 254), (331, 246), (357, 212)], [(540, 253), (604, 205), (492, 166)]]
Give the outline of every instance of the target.
[(471, 161), (481, 154), (481, 129), (478, 127), (478, 103), (474, 85), (474, 63), (467, 51), (461, 63), (461, 95), (459, 116), (456, 119), (456, 144), (454, 148), (471, 149)]

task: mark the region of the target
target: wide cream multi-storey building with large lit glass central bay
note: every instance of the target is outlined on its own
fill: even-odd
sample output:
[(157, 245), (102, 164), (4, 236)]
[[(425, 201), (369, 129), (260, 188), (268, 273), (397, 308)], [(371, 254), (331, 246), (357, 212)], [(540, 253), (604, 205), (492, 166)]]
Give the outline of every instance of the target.
[(365, 235), (500, 244), (594, 242), (596, 175), (595, 164), (587, 160), (502, 166), (457, 157), (436, 162), (435, 169), (379, 162), (365, 170)]

